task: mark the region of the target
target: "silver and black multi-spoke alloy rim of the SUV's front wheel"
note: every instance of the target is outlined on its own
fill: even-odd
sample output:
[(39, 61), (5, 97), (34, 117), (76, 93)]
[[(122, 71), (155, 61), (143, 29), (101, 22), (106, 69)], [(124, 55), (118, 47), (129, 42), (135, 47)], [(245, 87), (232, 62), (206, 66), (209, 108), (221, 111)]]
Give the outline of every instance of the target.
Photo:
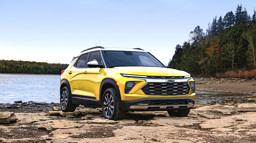
[(108, 93), (104, 98), (103, 110), (108, 118), (110, 118), (114, 112), (114, 100), (110, 93)]

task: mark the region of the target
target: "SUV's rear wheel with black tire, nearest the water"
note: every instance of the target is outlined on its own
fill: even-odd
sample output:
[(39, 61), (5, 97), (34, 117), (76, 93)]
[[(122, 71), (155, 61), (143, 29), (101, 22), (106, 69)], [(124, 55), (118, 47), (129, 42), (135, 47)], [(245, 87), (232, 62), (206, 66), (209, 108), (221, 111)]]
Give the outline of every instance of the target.
[(69, 88), (67, 86), (63, 87), (61, 89), (61, 92), (60, 92), (60, 107), (61, 107), (61, 110), (63, 112), (74, 112), (75, 111), (76, 104), (72, 103)]

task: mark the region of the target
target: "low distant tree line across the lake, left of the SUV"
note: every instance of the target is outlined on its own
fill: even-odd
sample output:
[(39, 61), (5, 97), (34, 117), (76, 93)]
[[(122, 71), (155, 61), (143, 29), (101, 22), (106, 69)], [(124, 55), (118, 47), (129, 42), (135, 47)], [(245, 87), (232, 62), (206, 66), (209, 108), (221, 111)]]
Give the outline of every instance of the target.
[(60, 74), (68, 64), (0, 60), (0, 73)]

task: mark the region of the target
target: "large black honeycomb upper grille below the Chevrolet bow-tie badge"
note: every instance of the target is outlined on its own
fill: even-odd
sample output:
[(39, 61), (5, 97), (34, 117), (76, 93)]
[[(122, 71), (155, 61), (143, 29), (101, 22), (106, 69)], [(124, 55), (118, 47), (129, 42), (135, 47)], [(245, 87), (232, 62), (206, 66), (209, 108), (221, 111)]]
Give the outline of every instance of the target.
[(148, 83), (142, 91), (146, 95), (186, 95), (189, 89), (187, 83)]

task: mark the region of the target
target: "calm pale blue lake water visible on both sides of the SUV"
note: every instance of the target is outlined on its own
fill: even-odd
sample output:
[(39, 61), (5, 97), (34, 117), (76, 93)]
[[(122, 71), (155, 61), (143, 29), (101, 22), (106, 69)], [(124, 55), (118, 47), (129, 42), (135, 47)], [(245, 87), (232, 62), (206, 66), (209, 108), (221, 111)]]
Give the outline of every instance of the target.
[[(55, 102), (59, 103), (60, 75), (0, 74), (0, 103)], [(206, 103), (216, 98), (248, 94), (196, 90), (196, 102)]]

